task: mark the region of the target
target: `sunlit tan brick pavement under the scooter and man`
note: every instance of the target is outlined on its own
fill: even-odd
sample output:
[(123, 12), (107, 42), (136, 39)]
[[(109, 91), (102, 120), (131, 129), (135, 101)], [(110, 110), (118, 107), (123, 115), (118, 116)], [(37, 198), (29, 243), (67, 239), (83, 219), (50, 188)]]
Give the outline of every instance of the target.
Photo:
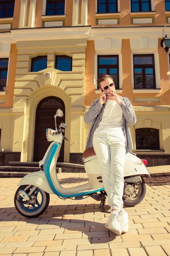
[[(58, 176), (64, 187), (87, 182), (85, 173)], [(144, 200), (126, 208), (129, 232), (115, 236), (105, 228), (109, 213), (91, 197), (51, 195), (43, 215), (24, 218), (14, 207), (19, 180), (0, 179), (0, 256), (170, 256), (169, 185), (147, 186)]]

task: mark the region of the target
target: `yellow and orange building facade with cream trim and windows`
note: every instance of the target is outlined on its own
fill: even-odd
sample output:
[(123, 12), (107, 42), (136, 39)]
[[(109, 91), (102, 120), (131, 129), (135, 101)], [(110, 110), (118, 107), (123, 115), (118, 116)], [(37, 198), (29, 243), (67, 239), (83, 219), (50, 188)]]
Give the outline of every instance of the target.
[[(132, 102), (136, 154), (170, 164), (169, 0), (0, 0), (0, 148), (39, 161), (61, 108), (65, 136), (59, 161), (76, 163), (108, 73)], [(154, 159), (154, 163), (153, 163)], [(78, 161), (79, 162), (79, 161)]]

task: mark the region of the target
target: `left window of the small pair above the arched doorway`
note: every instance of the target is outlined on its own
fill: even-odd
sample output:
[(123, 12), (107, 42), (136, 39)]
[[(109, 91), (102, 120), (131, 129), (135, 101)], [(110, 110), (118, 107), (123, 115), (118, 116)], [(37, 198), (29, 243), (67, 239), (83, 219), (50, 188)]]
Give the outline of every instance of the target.
[(47, 56), (38, 56), (32, 58), (31, 61), (31, 72), (38, 72), (47, 68)]

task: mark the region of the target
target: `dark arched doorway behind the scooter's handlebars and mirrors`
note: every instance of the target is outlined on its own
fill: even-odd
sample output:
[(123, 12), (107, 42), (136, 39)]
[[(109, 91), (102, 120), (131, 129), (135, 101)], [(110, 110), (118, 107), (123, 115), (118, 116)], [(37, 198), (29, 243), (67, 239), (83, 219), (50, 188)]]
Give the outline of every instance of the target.
[[(50, 96), (42, 99), (37, 106), (34, 134), (34, 162), (39, 162), (40, 160), (42, 160), (48, 146), (51, 143), (46, 139), (45, 130), (47, 128), (55, 130), (54, 115), (58, 108), (63, 111), (64, 115), (57, 118), (57, 128), (59, 128), (61, 122), (65, 122), (65, 105), (62, 99)], [(64, 143), (62, 143), (62, 147), (58, 157), (58, 162), (63, 161)]]

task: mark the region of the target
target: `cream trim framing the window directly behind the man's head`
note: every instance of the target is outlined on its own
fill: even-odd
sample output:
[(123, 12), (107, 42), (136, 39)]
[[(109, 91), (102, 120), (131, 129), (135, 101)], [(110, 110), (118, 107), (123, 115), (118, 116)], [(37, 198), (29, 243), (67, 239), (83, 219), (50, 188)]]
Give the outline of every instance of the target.
[[(123, 72), (122, 72), (122, 53), (121, 49), (113, 51), (111, 49), (108, 50), (102, 50), (102, 51), (96, 51), (96, 54), (94, 56), (94, 85), (97, 89), (97, 55), (119, 55), (119, 89), (122, 89), (122, 83), (123, 83)], [(120, 93), (120, 91), (119, 91)]]

